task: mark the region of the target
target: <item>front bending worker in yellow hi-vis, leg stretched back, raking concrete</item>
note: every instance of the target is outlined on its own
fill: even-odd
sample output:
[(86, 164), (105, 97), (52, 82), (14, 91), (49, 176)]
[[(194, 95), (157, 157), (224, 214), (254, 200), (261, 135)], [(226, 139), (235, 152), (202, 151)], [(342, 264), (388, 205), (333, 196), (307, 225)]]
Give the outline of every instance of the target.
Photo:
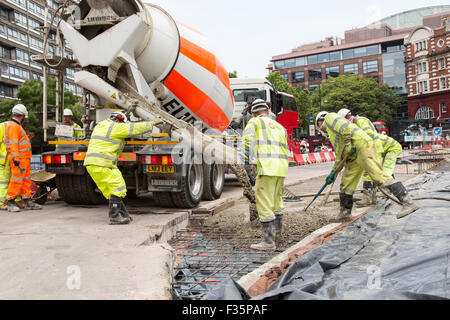
[(385, 192), (390, 192), (403, 204), (397, 218), (403, 218), (419, 209), (411, 199), (401, 182), (386, 174), (377, 156), (374, 141), (355, 124), (340, 117), (337, 113), (320, 112), (316, 117), (316, 128), (327, 135), (336, 152), (336, 164), (326, 178), (327, 184), (332, 184), (338, 173), (340, 161), (345, 161), (345, 171), (340, 186), (340, 212), (335, 222), (352, 219), (353, 194), (359, 184), (364, 170), (372, 181)]

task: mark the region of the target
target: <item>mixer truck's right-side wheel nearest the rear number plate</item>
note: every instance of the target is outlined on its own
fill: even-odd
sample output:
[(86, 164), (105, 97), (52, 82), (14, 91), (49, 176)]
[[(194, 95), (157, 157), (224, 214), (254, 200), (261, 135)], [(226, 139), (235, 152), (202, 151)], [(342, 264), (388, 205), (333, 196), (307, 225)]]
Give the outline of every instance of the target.
[(195, 208), (202, 200), (203, 168), (199, 164), (190, 164), (187, 175), (181, 179), (182, 192), (173, 192), (172, 200), (176, 207), (182, 209)]

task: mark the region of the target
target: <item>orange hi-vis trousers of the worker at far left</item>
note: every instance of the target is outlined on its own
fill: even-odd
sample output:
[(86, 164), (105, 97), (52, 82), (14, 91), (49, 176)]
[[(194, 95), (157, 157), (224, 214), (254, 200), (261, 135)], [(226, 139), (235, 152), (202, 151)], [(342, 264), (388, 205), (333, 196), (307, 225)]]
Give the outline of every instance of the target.
[(13, 160), (10, 159), (9, 164), (11, 166), (11, 180), (8, 186), (8, 195), (6, 200), (16, 199), (21, 197), (22, 199), (31, 198), (31, 159), (22, 158), (19, 160), (19, 167), (16, 167)]

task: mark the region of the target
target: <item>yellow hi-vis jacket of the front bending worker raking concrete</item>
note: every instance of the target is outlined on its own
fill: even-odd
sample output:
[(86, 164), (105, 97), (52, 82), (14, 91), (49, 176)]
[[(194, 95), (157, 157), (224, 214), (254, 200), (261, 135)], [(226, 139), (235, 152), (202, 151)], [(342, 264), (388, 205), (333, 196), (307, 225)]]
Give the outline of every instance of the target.
[(365, 134), (356, 124), (340, 117), (335, 112), (325, 116), (324, 126), (336, 153), (336, 164), (343, 158), (342, 153), (347, 143), (351, 143), (356, 150), (364, 142), (372, 143), (372, 138)]

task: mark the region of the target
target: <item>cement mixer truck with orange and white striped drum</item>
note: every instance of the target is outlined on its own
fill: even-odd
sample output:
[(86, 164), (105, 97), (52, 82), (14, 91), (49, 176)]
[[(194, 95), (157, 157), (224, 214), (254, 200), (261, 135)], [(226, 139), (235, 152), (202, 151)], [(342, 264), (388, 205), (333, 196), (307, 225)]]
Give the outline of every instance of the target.
[[(140, 0), (82, 0), (60, 9), (62, 43), (73, 49), (75, 82), (84, 88), (84, 138), (58, 141), (43, 156), (63, 200), (105, 202), (83, 161), (95, 124), (117, 109), (132, 121), (166, 123), (127, 141), (117, 165), (129, 196), (152, 192), (160, 206), (180, 208), (219, 198), (227, 164), (241, 155), (233, 139), (230, 146), (217, 139), (231, 122), (234, 100), (228, 72), (205, 37)], [(49, 61), (57, 58), (44, 52), (34, 60), (55, 67)]]

